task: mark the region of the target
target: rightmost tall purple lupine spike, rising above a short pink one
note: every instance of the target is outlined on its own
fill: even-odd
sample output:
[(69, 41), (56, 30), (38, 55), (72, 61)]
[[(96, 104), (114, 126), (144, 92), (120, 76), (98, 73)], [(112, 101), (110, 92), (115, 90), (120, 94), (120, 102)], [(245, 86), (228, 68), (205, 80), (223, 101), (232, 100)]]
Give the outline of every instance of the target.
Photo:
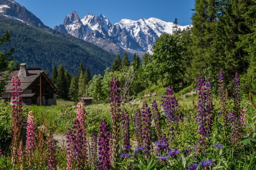
[(236, 73), (233, 81), (233, 99), (234, 99), (234, 113), (239, 117), (240, 115), (240, 79)]

